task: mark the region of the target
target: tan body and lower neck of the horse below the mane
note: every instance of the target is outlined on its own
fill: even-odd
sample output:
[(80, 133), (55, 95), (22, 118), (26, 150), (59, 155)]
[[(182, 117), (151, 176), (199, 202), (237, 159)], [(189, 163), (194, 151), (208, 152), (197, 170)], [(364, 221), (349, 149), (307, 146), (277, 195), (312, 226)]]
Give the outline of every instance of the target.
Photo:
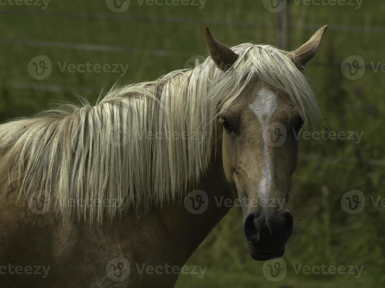
[[(211, 191), (210, 197), (232, 197), (218, 158), (212, 167), (210, 176), (194, 189)], [(178, 274), (171, 273), (171, 268), (167, 274), (165, 268), (162, 273), (145, 269), (184, 265), (229, 209), (217, 207), (214, 199), (209, 203), (204, 214), (193, 215), (183, 203), (176, 203), (167, 209), (151, 209), (141, 217), (128, 212), (111, 224), (97, 226), (63, 220), (54, 211), (35, 214), (27, 201), (17, 200), (17, 193), (4, 195), (0, 203), (0, 259), (7, 273), (0, 275), (0, 287), (173, 287)], [(117, 257), (130, 263), (126, 270), (110, 263)], [(16, 274), (8, 263), (14, 267), (44, 266), (45, 271), (39, 268), (36, 274)]]

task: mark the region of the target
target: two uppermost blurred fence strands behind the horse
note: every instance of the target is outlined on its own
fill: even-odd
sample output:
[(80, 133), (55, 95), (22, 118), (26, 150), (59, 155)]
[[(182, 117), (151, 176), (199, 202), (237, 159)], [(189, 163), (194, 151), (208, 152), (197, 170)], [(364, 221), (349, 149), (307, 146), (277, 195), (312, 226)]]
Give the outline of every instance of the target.
[[(85, 20), (120, 20), (126, 22), (142, 22), (142, 23), (174, 23), (174, 24), (188, 24), (188, 25), (219, 25), (219, 26), (236, 26), (236, 27), (258, 27), (258, 28), (276, 28), (276, 25), (267, 25), (263, 23), (248, 23), (248, 22), (228, 22), (228, 21), (213, 21), (201, 19), (187, 19), (179, 17), (146, 17), (136, 15), (121, 15), (117, 13), (87, 13), (87, 12), (67, 12), (67, 11), (45, 11), (45, 10), (25, 10), (25, 9), (5, 9), (0, 10), (3, 15), (28, 15), (38, 17), (55, 17), (55, 18), (74, 18)], [(318, 29), (321, 25), (302, 24), (293, 25), (290, 27), (297, 30), (311, 30)], [(385, 27), (360, 27), (360, 26), (329, 26), (329, 30), (334, 31), (353, 31), (358, 33), (385, 33)], [(69, 42), (55, 42), (55, 41), (41, 41), (30, 39), (15, 39), (15, 38), (0, 38), (0, 43), (18, 44), (26, 46), (37, 47), (57, 47), (84, 51), (100, 51), (100, 52), (128, 52), (134, 54), (143, 54), (150, 56), (191, 56), (197, 55), (197, 52), (186, 51), (171, 51), (161, 49), (143, 50), (138, 48), (123, 47), (123, 46), (109, 46), (97, 45), (91, 43), (69, 43)], [(323, 68), (340, 69), (340, 63), (324, 63), (313, 62), (310, 66), (318, 66)], [(365, 65), (366, 70), (372, 69), (372, 66)]]

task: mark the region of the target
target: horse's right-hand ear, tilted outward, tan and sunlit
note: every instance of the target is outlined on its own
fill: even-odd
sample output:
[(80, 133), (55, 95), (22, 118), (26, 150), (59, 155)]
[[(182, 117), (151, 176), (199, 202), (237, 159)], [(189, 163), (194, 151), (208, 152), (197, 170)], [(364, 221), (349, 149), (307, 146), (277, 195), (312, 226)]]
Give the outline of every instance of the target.
[(297, 50), (288, 54), (288, 56), (295, 63), (299, 70), (304, 70), (306, 63), (308, 63), (308, 61), (310, 61), (316, 55), (327, 28), (328, 25), (323, 26), (321, 29), (316, 31), (313, 36), (311, 36), (309, 41), (307, 41)]

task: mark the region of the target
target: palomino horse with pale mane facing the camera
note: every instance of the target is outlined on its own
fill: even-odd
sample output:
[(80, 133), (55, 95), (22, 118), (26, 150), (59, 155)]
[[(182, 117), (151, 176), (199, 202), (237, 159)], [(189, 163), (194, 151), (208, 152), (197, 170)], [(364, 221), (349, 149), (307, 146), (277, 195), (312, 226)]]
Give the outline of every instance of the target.
[(0, 286), (173, 287), (232, 189), (251, 257), (282, 256), (294, 132), (320, 117), (301, 70), (326, 28), (286, 52), (206, 27), (192, 69), (2, 124)]

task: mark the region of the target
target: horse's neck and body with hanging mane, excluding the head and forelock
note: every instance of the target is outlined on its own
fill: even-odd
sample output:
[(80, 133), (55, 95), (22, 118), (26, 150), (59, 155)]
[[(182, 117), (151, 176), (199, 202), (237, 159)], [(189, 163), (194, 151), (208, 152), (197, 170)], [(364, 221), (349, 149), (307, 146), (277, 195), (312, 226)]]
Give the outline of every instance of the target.
[[(218, 124), (206, 132), (211, 119), (192, 116), (214, 107), (172, 99), (188, 88), (184, 77), (177, 71), (154, 83), (112, 90), (96, 106), (70, 106), (0, 126), (0, 266), (49, 267), (47, 275), (3, 268), (0, 283), (174, 286), (178, 273), (147, 272), (143, 265), (181, 268), (229, 209), (217, 207), (214, 196), (233, 197), (220, 142), (211, 142), (219, 137), (213, 128)], [(184, 97), (198, 99), (195, 94)], [(206, 96), (207, 91), (199, 95)], [(192, 119), (181, 113), (177, 121), (168, 110)], [(170, 138), (170, 130), (179, 138)], [(195, 138), (181, 139), (184, 131)], [(204, 214), (186, 210), (184, 194), (192, 190), (210, 192)]]

